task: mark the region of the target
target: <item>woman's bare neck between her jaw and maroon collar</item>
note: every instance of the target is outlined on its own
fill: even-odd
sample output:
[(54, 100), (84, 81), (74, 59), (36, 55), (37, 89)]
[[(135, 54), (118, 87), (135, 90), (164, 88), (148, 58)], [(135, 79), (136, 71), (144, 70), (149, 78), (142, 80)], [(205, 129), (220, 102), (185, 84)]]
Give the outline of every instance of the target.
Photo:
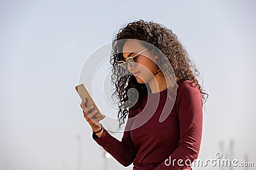
[(156, 74), (152, 80), (148, 81), (151, 93), (161, 92), (167, 88), (167, 83), (164, 76)]

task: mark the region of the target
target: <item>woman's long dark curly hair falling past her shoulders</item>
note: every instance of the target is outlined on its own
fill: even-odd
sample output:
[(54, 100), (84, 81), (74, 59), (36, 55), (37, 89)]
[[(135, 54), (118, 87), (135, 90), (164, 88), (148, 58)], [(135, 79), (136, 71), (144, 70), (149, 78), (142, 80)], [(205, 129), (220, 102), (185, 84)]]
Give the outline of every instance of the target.
[[(184, 80), (192, 81), (201, 92), (203, 104), (206, 102), (208, 94), (196, 79), (196, 77), (200, 78), (200, 73), (195, 63), (189, 59), (188, 53), (179, 42), (176, 34), (174, 34), (172, 30), (155, 22), (145, 22), (144, 20), (131, 22), (121, 28), (118, 34), (115, 35), (112, 44), (113, 55), (110, 59), (111, 65), (113, 66), (111, 82), (115, 85), (113, 96), (118, 99), (119, 128), (124, 124), (125, 118), (129, 113), (127, 108), (129, 108), (131, 115), (135, 116), (136, 109), (141, 103), (143, 96), (147, 94), (147, 83), (138, 83), (133, 75), (124, 74), (122, 72), (125, 70), (120, 70), (117, 67), (117, 61), (124, 60), (123, 53), (120, 52), (124, 43), (116, 43), (116, 41), (121, 39), (138, 39), (156, 46), (168, 58), (170, 64), (172, 64), (177, 83)], [(128, 90), (132, 88), (138, 91), (139, 98), (138, 102), (130, 108), (131, 102), (129, 102), (129, 100), (132, 99), (132, 96)]]

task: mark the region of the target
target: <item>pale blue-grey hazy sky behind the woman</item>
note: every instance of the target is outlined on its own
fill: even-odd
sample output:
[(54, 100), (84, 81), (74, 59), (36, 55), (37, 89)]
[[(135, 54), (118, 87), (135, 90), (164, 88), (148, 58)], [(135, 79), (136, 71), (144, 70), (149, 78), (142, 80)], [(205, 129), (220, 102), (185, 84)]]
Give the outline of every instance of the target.
[(247, 154), (256, 164), (255, 7), (253, 0), (0, 1), (0, 169), (132, 169), (104, 157), (74, 87), (85, 60), (138, 19), (172, 29), (200, 70), (209, 99), (198, 159), (228, 157), (233, 139), (234, 158)]

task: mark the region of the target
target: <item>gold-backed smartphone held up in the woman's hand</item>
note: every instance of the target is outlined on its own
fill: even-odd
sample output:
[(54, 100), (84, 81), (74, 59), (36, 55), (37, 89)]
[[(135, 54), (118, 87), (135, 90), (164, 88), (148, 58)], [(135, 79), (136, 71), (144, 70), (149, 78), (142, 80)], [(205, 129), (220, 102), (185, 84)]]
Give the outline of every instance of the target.
[(96, 115), (94, 115), (94, 118), (102, 117), (102, 114), (100, 113), (99, 108), (95, 104), (95, 101), (93, 101), (92, 96), (90, 95), (90, 93), (88, 92), (86, 87), (83, 84), (77, 85), (76, 91), (82, 100), (86, 99), (86, 107), (91, 106), (93, 104), (94, 108), (89, 113), (92, 113), (92, 111), (94, 111), (96, 109), (96, 110), (98, 110), (98, 112), (96, 113)]

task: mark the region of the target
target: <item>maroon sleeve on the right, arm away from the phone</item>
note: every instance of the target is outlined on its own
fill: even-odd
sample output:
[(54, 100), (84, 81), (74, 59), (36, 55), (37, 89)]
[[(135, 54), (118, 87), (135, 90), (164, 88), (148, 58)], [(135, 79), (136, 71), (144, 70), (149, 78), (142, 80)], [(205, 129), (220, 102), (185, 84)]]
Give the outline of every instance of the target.
[(179, 101), (177, 114), (180, 125), (179, 146), (155, 170), (191, 169), (189, 164), (198, 157), (202, 138), (201, 93), (197, 87), (193, 87), (189, 83), (180, 90), (180, 99), (177, 98)]

